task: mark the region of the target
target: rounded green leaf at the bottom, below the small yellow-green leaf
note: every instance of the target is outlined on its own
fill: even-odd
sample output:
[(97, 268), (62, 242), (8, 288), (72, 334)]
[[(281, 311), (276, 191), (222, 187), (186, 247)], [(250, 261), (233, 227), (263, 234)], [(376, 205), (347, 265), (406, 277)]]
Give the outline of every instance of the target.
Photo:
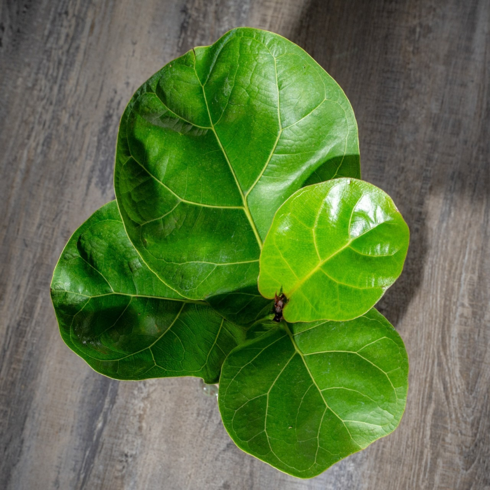
[(311, 478), (390, 434), (407, 387), (403, 342), (371, 309), (345, 322), (282, 321), (236, 347), (223, 364), (218, 401), (241, 449)]

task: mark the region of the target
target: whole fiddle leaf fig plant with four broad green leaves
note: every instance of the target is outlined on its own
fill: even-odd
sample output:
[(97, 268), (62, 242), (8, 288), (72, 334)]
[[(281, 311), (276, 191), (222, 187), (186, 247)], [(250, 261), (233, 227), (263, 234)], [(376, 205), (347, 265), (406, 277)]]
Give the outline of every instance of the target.
[(305, 51), (246, 27), (192, 49), (123, 113), (116, 200), (53, 273), (63, 340), (115, 379), (219, 383), (241, 449), (318, 475), (392, 432), (407, 395), (373, 306), (409, 231), (360, 177), (352, 107)]

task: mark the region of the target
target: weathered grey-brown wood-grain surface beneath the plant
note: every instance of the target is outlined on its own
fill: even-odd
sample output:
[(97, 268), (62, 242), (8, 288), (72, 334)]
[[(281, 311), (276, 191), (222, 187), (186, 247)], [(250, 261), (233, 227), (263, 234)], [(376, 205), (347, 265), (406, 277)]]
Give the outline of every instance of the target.
[[(195, 379), (124, 383), (61, 341), (51, 272), (113, 197), (133, 91), (237, 25), (304, 47), (352, 101), (363, 176), (411, 227), (381, 311), (411, 361), (400, 427), (310, 481), (242, 453)], [(490, 2), (0, 2), (0, 488), (490, 489)]]

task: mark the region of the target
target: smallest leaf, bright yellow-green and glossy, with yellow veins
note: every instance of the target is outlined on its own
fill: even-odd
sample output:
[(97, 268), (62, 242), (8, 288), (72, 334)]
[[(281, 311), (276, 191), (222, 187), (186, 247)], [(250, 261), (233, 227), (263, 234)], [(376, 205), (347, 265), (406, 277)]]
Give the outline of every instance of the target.
[(287, 321), (349, 320), (400, 275), (409, 229), (392, 199), (357, 179), (305, 187), (278, 210), (260, 256), (259, 291), (287, 297)]

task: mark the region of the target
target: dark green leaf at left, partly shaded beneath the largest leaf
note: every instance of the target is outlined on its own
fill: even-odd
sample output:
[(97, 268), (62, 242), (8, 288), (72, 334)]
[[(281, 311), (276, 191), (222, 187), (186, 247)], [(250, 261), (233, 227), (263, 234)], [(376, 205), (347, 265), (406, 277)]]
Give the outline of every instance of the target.
[(216, 383), (244, 338), (207, 303), (168, 288), (129, 242), (116, 201), (73, 234), (54, 270), (51, 297), (65, 343), (116, 379), (197, 376)]

